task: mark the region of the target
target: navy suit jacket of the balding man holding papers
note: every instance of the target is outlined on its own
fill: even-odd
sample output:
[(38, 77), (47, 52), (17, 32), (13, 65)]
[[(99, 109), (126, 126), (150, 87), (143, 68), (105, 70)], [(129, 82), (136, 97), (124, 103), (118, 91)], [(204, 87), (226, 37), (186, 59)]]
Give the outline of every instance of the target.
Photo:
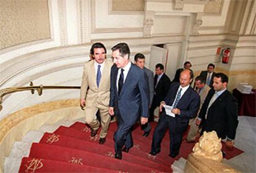
[[(179, 89), (179, 83), (174, 82), (169, 88), (168, 94), (164, 98), (164, 102), (172, 106), (174, 99)], [(187, 91), (182, 95), (176, 108), (181, 110), (181, 114), (177, 115), (175, 119), (179, 119), (182, 124), (188, 124), (189, 119), (192, 119), (196, 114), (200, 106), (200, 96), (189, 86)]]

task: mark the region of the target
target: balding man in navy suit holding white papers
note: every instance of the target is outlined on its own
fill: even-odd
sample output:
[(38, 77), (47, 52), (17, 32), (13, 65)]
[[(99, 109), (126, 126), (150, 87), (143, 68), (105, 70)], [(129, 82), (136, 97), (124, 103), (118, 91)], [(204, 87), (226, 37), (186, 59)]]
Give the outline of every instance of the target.
[(175, 158), (179, 154), (182, 134), (187, 129), (189, 119), (192, 119), (197, 113), (200, 104), (199, 95), (189, 85), (192, 80), (193, 73), (191, 70), (182, 71), (179, 78), (180, 82), (172, 83), (168, 94), (161, 101), (160, 111), (163, 110), (164, 105), (172, 106), (172, 109), (171, 113), (166, 113), (166, 109), (161, 113), (153, 134), (151, 155), (155, 156), (160, 153), (161, 141), (167, 129), (169, 129), (170, 138), (169, 156)]

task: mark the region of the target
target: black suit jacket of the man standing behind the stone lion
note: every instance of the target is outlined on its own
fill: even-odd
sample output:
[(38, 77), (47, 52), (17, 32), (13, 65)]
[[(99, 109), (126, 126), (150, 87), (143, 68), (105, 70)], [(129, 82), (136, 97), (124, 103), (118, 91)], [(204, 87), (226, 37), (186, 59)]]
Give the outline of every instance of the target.
[(218, 96), (215, 102), (211, 104), (208, 109), (207, 120), (205, 120), (205, 114), (214, 93), (215, 90), (213, 89), (208, 92), (207, 98), (199, 112), (198, 117), (202, 119), (202, 128), (207, 132), (215, 130), (220, 138), (228, 137), (231, 140), (234, 140), (238, 125), (238, 108), (236, 98), (234, 98), (228, 90), (224, 91)]

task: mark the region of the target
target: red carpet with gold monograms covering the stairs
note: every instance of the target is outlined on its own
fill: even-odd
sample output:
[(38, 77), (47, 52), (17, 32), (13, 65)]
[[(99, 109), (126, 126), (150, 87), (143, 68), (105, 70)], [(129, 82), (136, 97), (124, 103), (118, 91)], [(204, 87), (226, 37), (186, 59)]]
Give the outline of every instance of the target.
[[(195, 143), (182, 142), (179, 156), (170, 158), (169, 135), (166, 133), (161, 152), (151, 156), (148, 153), (156, 123), (151, 126), (148, 137), (142, 137), (139, 124), (134, 126), (134, 147), (129, 153), (122, 153), (122, 160), (114, 159), (115, 122), (109, 127), (104, 145), (98, 143), (98, 135), (90, 137), (90, 129), (83, 123), (61, 126), (54, 133), (45, 133), (40, 143), (32, 144), (29, 158), (22, 159), (19, 172), (172, 172), (171, 164), (181, 157), (186, 159)], [(226, 159), (243, 152), (237, 148), (226, 150), (226, 145), (223, 145), (223, 151)]]

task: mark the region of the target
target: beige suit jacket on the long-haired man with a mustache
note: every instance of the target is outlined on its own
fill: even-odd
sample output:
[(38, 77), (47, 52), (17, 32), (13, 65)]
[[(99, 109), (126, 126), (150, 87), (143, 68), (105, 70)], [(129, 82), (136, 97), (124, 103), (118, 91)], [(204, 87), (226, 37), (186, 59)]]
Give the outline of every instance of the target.
[(98, 101), (98, 103), (100, 102), (100, 104), (103, 104), (104, 106), (109, 106), (110, 70), (113, 62), (108, 59), (105, 60), (99, 88), (96, 84), (94, 63), (95, 60), (85, 62), (83, 67), (80, 99), (86, 99), (86, 106), (92, 106), (95, 101)]

